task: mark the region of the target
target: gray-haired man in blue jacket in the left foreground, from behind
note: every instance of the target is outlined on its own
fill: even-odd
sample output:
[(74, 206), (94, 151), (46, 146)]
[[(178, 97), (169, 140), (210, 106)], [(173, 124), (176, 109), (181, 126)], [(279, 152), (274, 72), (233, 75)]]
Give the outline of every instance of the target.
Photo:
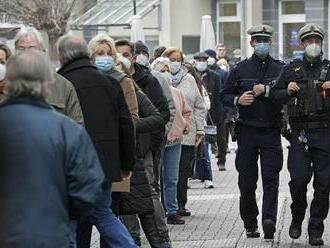
[(14, 55), (0, 105), (0, 247), (68, 248), (70, 219), (87, 214), (103, 173), (84, 128), (44, 100), (46, 55)]

